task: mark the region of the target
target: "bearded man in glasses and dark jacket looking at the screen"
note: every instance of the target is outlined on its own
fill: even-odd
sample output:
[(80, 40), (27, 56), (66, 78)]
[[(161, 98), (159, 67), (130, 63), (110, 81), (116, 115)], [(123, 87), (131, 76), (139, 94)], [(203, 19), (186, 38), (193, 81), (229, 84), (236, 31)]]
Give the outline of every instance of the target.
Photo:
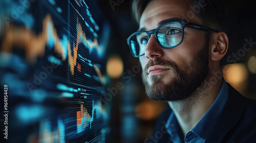
[(223, 3), (137, 0), (133, 13), (139, 30), (127, 43), (142, 65), (146, 94), (172, 109), (145, 142), (256, 142), (256, 102), (222, 78)]

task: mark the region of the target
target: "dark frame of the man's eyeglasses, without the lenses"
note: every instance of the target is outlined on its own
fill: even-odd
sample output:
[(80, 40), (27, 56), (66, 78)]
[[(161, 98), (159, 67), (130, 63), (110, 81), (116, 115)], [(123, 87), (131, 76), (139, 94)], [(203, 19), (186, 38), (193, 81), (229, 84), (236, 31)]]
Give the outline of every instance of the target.
[[(163, 26), (165, 26), (165, 25), (168, 25), (168, 24), (170, 24), (170, 23), (180, 23), (181, 28), (182, 28), (182, 39), (181, 39), (181, 41), (180, 41), (178, 44), (176, 44), (176, 45), (174, 45), (174, 46), (164, 47), (163, 45), (160, 44), (160, 42), (159, 42), (159, 40), (158, 40), (158, 38), (157, 38), (157, 31), (158, 31), (161, 27), (163, 27)], [(183, 32), (183, 31), (184, 31), (184, 28), (185, 28), (186, 26), (187, 26), (187, 27), (194, 28), (194, 29), (197, 29), (197, 30), (206, 31), (206, 32), (208, 32), (208, 31), (219, 32), (218, 30), (211, 29), (211, 28), (208, 28), (208, 27), (206, 27), (206, 26), (199, 25), (199, 24), (197, 24), (197, 23), (191, 23), (191, 22), (185, 22), (185, 21), (172, 21), (172, 22), (164, 23), (163, 25), (159, 26), (158, 28), (153, 29), (153, 30), (150, 30), (150, 31), (136, 31), (136, 32), (134, 32), (131, 36), (129, 36), (129, 37), (126, 39), (126, 41), (127, 41), (127, 44), (129, 45), (130, 52), (132, 53), (132, 55), (133, 55), (135, 58), (137, 58), (137, 57), (143, 56), (143, 55), (145, 54), (145, 52), (144, 52), (142, 55), (138, 55), (138, 56), (136, 56), (136, 55), (133, 54), (133, 52), (132, 52), (132, 47), (131, 47), (131, 38), (132, 38), (134, 35), (136, 35), (136, 34), (138, 34), (138, 33), (141, 33), (141, 32), (145, 32), (145, 33), (147, 34), (147, 37), (148, 37), (148, 40), (149, 40), (150, 37), (151, 37), (151, 34), (154, 33), (154, 36), (155, 36), (155, 38), (156, 38), (156, 40), (157, 40), (157, 43), (158, 43), (163, 49), (171, 49), (171, 48), (176, 47), (176, 46), (178, 46), (179, 44), (182, 43), (183, 37), (184, 37), (184, 32)]]

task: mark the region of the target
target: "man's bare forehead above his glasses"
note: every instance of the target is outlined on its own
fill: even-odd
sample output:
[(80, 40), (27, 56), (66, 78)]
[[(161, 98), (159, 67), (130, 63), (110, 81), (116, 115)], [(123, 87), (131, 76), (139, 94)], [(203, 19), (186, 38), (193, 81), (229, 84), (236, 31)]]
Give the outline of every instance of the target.
[[(191, 0), (153, 0), (146, 6), (141, 15), (140, 28), (151, 30), (157, 28), (158, 22), (162, 20), (187, 18), (185, 16), (188, 14), (194, 14), (190, 7), (193, 7)], [(189, 19), (189, 21), (201, 23), (196, 16)]]

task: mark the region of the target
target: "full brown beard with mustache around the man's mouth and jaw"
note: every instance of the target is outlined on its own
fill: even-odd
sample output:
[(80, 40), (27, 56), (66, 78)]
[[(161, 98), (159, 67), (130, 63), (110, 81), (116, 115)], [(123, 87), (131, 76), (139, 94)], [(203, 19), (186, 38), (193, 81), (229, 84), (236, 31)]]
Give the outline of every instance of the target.
[[(164, 59), (152, 59), (147, 62), (143, 72), (142, 81), (145, 85), (146, 94), (156, 101), (181, 101), (191, 97), (198, 87), (209, 75), (209, 41), (205, 40), (202, 49), (181, 69), (175, 62)], [(168, 83), (163, 82), (163, 74), (152, 75), (151, 85), (146, 76), (150, 66), (163, 65), (173, 72), (173, 79)], [(172, 77), (170, 77), (172, 78)]]

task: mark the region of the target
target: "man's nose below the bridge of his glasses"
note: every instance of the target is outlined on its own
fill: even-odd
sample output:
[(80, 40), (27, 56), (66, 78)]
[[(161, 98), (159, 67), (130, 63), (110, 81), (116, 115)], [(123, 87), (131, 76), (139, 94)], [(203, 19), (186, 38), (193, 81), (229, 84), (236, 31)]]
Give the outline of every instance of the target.
[(147, 59), (160, 58), (163, 56), (163, 48), (157, 43), (157, 40), (154, 34), (151, 35), (151, 38), (147, 42), (145, 49), (145, 57)]

